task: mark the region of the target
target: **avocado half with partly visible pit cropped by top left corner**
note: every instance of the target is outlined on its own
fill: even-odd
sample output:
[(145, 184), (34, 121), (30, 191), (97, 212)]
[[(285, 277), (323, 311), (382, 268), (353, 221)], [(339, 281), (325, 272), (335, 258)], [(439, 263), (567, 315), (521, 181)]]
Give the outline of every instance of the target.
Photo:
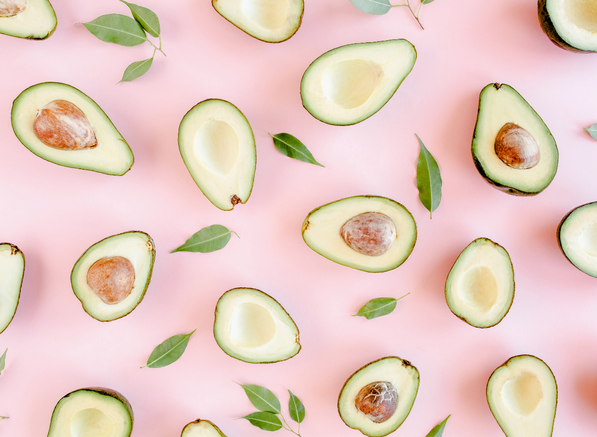
[(0, 33), (46, 39), (56, 30), (56, 13), (48, 0), (13, 0), (0, 5)]

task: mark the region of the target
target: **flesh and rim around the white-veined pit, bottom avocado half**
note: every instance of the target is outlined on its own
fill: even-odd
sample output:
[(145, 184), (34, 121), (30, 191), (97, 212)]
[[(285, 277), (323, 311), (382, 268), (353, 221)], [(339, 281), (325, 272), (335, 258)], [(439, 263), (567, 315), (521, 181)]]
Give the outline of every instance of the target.
[[(396, 411), (387, 420), (376, 423), (361, 413), (355, 405), (359, 391), (368, 384), (391, 383), (398, 392)], [(408, 417), (417, 397), (418, 370), (398, 356), (386, 356), (361, 367), (348, 378), (338, 396), (338, 413), (347, 426), (369, 437), (382, 437), (398, 429)]]

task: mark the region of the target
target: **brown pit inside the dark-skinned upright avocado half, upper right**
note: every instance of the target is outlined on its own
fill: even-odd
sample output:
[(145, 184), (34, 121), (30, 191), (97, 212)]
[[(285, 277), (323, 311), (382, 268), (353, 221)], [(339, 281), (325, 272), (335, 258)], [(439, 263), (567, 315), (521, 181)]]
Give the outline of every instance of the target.
[(537, 141), (527, 130), (514, 123), (501, 127), (494, 149), (501, 162), (519, 170), (535, 167), (541, 158)]

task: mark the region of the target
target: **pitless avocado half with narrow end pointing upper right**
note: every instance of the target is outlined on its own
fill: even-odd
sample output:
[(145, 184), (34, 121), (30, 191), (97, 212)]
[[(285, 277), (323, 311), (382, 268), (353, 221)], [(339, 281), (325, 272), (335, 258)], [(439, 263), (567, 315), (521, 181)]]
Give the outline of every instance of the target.
[(390, 100), (416, 59), (414, 46), (405, 39), (334, 48), (304, 72), (303, 106), (327, 124), (359, 123)]

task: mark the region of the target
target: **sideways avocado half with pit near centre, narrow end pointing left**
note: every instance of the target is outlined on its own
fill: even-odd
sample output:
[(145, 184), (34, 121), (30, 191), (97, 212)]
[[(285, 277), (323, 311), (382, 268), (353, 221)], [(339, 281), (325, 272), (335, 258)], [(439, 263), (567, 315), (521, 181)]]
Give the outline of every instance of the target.
[(417, 241), (407, 208), (380, 196), (353, 196), (311, 211), (303, 239), (321, 256), (364, 272), (387, 272), (404, 263)]

